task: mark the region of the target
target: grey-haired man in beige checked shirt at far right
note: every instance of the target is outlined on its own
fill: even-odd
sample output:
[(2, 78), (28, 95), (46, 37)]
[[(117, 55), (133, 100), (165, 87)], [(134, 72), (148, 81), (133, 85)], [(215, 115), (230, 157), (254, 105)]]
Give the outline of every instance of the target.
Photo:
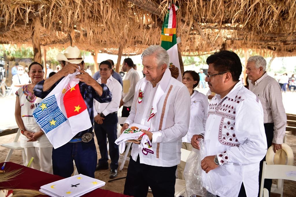
[[(281, 88), (279, 83), (266, 72), (266, 60), (259, 55), (248, 59), (246, 74), (249, 80), (249, 89), (261, 101), (264, 112), (264, 129), (267, 147), (274, 145), (274, 152), (281, 149), (285, 135), (287, 116), (285, 113)], [(262, 166), (265, 157), (260, 162), (259, 180), (262, 176)], [(259, 181), (259, 188), (260, 188)], [(264, 188), (270, 192), (272, 180), (264, 181)]]

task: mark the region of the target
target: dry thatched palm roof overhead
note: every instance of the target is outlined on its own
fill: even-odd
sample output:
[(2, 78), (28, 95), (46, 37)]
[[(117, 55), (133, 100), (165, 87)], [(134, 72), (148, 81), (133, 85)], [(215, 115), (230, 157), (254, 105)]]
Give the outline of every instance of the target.
[[(181, 51), (271, 50), (296, 54), (295, 0), (179, 0), (177, 36)], [(41, 46), (70, 44), (85, 50), (141, 53), (160, 44), (163, 16), (170, 1), (2, 0), (0, 43), (32, 43), (40, 29)], [(33, 25), (34, 24), (34, 25)]]

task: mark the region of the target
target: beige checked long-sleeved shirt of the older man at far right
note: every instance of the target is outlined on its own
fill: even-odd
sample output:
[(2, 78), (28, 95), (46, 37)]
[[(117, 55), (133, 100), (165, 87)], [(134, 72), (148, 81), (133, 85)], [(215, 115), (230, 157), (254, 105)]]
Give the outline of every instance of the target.
[(264, 113), (264, 123), (274, 123), (274, 138), (272, 143), (282, 144), (286, 131), (287, 116), (281, 96), (279, 83), (265, 72), (255, 81), (249, 81), (249, 89), (261, 101)]

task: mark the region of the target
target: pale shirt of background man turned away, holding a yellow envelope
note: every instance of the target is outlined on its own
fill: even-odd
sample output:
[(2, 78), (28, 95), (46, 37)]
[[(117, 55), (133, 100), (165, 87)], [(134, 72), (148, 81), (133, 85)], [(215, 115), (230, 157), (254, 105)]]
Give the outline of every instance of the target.
[(135, 87), (138, 81), (140, 80), (139, 74), (136, 70), (131, 68), (124, 76), (123, 81), (129, 80), (130, 87), (127, 93), (122, 92), (122, 101), (124, 102), (123, 106), (130, 107), (133, 104), (133, 96), (135, 95)]

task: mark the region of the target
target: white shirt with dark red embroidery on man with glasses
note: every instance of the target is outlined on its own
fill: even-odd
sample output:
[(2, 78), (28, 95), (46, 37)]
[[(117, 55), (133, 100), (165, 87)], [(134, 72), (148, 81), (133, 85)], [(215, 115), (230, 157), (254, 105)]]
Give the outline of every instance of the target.
[(202, 173), (203, 186), (231, 197), (238, 196), (243, 182), (247, 196), (257, 196), (259, 163), (267, 151), (263, 109), (240, 81), (223, 99), (216, 94), (210, 101), (204, 142), (206, 155), (217, 155), (221, 165)]

